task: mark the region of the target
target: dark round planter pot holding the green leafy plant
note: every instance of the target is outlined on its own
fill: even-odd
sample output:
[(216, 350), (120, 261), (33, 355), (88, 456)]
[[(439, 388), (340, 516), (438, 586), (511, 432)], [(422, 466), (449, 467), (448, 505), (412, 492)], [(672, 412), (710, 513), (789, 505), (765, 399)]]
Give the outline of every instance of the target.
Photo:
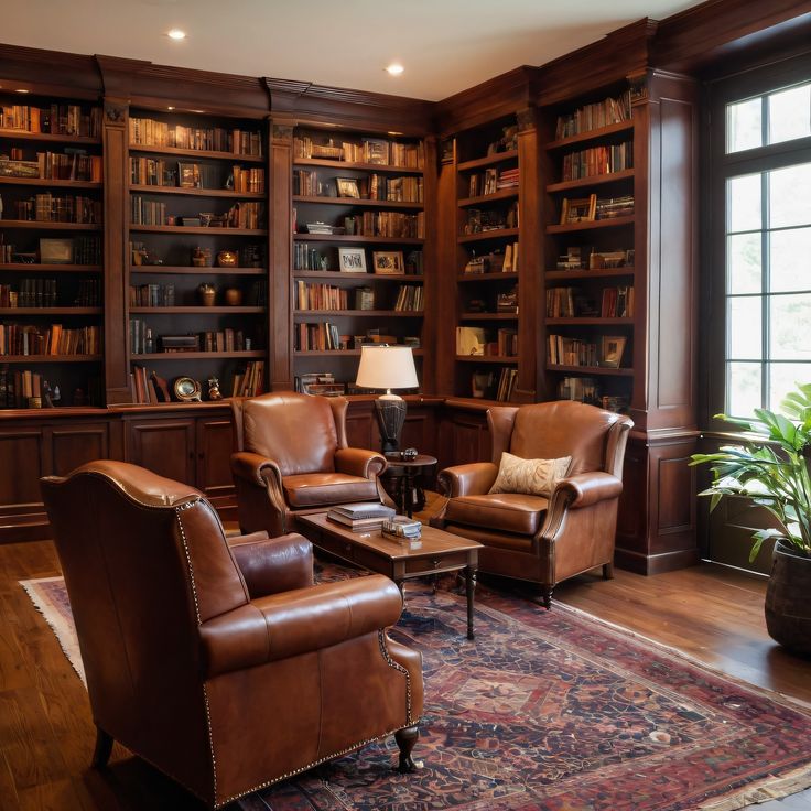
[(766, 627), (776, 642), (811, 653), (811, 558), (779, 542), (766, 588)]

